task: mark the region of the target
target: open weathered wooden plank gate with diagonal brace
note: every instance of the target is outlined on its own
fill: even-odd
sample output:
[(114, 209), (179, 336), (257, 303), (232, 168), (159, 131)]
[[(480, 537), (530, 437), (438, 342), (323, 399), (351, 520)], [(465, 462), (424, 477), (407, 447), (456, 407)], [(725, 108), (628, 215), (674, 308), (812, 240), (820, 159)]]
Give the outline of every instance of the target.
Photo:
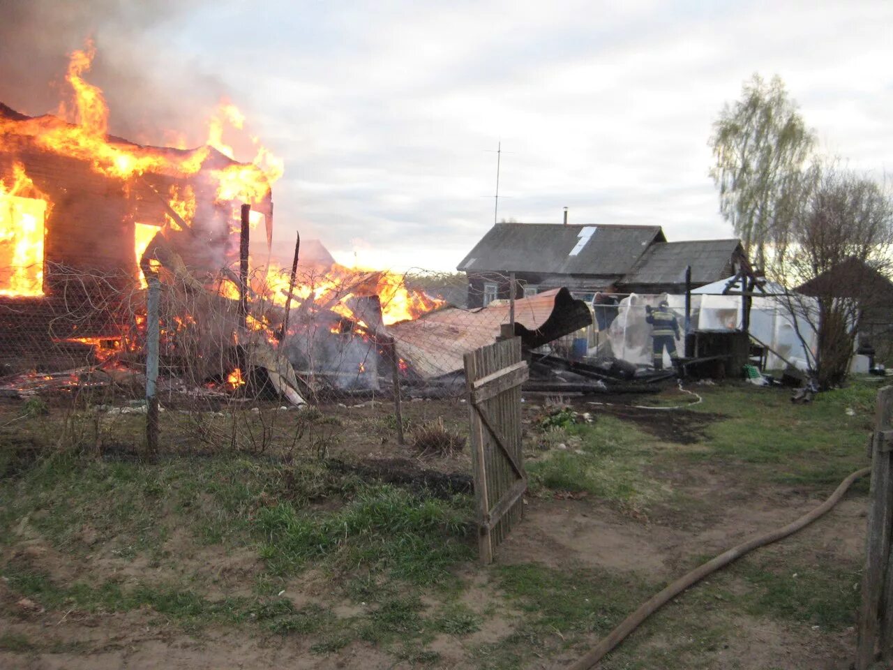
[(521, 448), (521, 385), (527, 363), (521, 338), (509, 338), (465, 354), (471, 423), (474, 497), (478, 507), (480, 561), (522, 518), (527, 474)]

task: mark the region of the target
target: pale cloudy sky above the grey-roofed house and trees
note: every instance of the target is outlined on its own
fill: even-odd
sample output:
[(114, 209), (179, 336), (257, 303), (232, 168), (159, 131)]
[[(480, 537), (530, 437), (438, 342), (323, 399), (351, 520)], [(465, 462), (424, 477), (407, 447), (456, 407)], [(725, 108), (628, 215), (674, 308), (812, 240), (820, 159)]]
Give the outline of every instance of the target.
[(754, 71), (780, 74), (822, 147), (880, 178), (891, 29), (889, 0), (231, 0), (183, 3), (138, 44), (153, 96), (200, 110), (225, 94), (285, 159), (283, 249), (300, 226), (339, 260), (449, 270), (493, 222), (500, 139), (500, 218), (559, 222), (568, 205), (575, 223), (729, 237), (707, 139)]

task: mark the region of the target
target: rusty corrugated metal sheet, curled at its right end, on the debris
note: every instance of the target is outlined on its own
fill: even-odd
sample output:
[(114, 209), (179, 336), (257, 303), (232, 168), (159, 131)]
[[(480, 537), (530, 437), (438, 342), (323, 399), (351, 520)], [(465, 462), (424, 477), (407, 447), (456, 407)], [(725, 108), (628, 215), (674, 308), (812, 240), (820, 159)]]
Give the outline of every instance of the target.
[[(525, 347), (536, 348), (592, 322), (588, 306), (567, 289), (545, 291), (515, 302), (515, 334)], [(509, 306), (477, 310), (446, 307), (414, 321), (396, 323), (388, 332), (396, 339), (397, 354), (410, 368), (430, 379), (463, 368), (463, 355), (491, 344), (499, 327), (509, 322)]]

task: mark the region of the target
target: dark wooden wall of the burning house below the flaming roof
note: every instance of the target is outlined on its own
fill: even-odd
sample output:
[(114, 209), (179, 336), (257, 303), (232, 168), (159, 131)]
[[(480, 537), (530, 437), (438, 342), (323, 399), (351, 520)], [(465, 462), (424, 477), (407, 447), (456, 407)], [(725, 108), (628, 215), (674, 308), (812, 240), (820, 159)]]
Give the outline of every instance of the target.
[[(0, 236), (0, 363), (18, 369), (58, 368), (83, 362), (85, 352), (99, 339), (120, 344), (135, 328), (134, 313), (141, 309), (138, 232), (162, 230), (169, 216), (172, 193), (195, 195), (195, 214), (187, 230), (168, 226), (167, 243), (196, 278), (219, 272), (238, 258), (238, 228), (233, 203), (217, 198), (210, 171), (236, 164), (213, 149), (204, 149), (201, 169), (193, 174), (146, 172), (127, 180), (106, 176), (87, 160), (46, 150), (28, 132), (16, 134), (15, 123), (29, 117), (12, 116), (0, 105), (5, 121), (0, 146), (0, 180), (15, 183), (22, 170), (33, 182), (20, 195), (43, 199), (42, 253), (37, 266), (28, 268), (36, 281), (30, 295), (11, 290), (13, 233)], [(10, 129), (13, 129), (12, 131)], [(172, 155), (179, 159), (195, 151), (139, 147), (109, 138), (129, 150)], [(7, 221), (16, 223), (13, 200), (6, 198)], [(3, 204), (3, 203), (0, 203)], [(254, 210), (271, 217), (268, 192)], [(263, 226), (258, 230), (261, 234)], [(4, 272), (6, 276), (4, 277)], [(42, 277), (41, 277), (42, 275)], [(4, 285), (4, 281), (6, 284)], [(131, 333), (132, 334), (132, 333)], [(93, 339), (91, 344), (71, 339)]]

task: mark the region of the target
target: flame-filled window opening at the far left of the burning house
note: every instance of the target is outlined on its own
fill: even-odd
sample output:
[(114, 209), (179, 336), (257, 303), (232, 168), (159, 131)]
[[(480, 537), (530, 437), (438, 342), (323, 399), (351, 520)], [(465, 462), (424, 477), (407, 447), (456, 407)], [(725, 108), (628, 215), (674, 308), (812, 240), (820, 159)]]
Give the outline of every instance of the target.
[(29, 187), (19, 164), (12, 187), (0, 181), (0, 296), (44, 295), (46, 200), (17, 195)]

